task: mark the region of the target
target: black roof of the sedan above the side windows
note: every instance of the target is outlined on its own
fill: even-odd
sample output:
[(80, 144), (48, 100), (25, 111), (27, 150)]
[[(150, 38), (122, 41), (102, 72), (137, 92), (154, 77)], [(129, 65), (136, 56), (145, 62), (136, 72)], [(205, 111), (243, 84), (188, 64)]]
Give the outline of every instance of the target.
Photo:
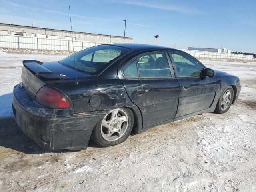
[[(156, 50), (156, 49), (168, 49), (168, 50), (177, 50), (170, 47), (158, 46), (158, 45), (148, 45), (148, 44), (135, 44), (135, 43), (114, 43), (108, 44), (114, 46), (120, 46), (128, 49), (132, 49), (134, 51), (142, 51), (142, 50)], [(180, 51), (180, 50), (177, 50)]]

